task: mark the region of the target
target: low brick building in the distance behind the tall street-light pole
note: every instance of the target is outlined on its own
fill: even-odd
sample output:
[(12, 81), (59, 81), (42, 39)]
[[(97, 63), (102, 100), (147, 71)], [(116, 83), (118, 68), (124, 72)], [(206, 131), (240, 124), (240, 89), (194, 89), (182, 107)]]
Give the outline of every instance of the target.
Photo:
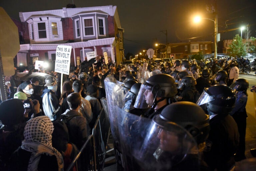
[(190, 55), (199, 52), (202, 52), (202, 54), (211, 54), (212, 51), (212, 41), (169, 43), (167, 45), (168, 57), (172, 59), (188, 59)]

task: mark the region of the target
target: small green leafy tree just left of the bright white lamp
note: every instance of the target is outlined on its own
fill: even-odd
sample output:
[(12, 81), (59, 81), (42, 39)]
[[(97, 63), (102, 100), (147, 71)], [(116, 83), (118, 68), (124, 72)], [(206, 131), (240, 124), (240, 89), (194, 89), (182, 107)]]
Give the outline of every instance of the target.
[(242, 42), (242, 37), (238, 34), (233, 38), (231, 45), (229, 45), (229, 56), (246, 56), (246, 47)]

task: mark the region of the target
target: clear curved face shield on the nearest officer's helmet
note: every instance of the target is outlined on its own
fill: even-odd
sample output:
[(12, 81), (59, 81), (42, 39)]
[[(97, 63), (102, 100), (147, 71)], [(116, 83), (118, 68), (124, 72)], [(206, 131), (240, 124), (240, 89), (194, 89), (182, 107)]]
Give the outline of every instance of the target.
[(165, 166), (157, 167), (171, 168), (181, 162), (191, 149), (197, 150), (197, 143), (187, 130), (174, 122), (164, 122), (164, 125), (159, 125), (152, 121), (141, 149), (134, 151), (138, 153), (134, 154), (137, 160), (146, 162), (147, 167), (156, 167), (156, 161), (168, 159), (168, 162), (161, 162)]

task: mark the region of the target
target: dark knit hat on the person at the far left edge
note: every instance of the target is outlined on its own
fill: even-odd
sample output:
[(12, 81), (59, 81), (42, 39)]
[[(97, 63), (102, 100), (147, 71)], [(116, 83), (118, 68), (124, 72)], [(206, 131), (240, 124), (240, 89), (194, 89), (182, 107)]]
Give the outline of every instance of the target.
[(8, 99), (0, 104), (0, 120), (6, 126), (16, 125), (23, 121), (24, 107), (19, 99)]

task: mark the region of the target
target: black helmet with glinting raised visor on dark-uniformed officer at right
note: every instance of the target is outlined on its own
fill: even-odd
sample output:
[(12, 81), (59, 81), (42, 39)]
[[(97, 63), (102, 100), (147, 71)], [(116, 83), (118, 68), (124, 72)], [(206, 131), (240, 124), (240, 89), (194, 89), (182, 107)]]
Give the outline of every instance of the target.
[(232, 111), (236, 101), (234, 91), (225, 85), (214, 85), (205, 88), (196, 104), (207, 104), (207, 110), (225, 114)]

